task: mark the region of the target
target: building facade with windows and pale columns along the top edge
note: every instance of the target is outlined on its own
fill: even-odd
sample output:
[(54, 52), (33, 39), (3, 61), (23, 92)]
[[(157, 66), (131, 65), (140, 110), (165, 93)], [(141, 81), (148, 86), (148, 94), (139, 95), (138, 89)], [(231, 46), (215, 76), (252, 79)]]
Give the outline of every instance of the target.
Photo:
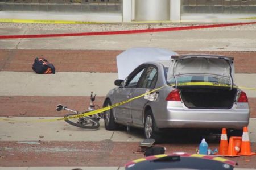
[[(159, 0), (0, 0), (0, 16), (14, 19), (49, 19), (50, 14), (52, 20), (96, 22), (146, 20), (238, 22), (244, 21), (245, 18), (256, 19), (256, 0), (162, 0), (164, 3), (159, 2)], [(145, 12), (141, 13), (142, 11)], [(142, 17), (144, 13), (146, 15)]]

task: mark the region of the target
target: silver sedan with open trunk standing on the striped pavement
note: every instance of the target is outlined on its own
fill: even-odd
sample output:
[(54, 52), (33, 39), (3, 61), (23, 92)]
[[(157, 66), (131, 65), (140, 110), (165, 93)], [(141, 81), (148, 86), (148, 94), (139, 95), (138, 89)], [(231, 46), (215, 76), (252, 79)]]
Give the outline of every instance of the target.
[(121, 124), (143, 128), (146, 138), (156, 138), (166, 128), (241, 131), (249, 123), (247, 96), (234, 84), (232, 57), (175, 55), (143, 63), (114, 84), (104, 106), (163, 88), (105, 111), (106, 130)]

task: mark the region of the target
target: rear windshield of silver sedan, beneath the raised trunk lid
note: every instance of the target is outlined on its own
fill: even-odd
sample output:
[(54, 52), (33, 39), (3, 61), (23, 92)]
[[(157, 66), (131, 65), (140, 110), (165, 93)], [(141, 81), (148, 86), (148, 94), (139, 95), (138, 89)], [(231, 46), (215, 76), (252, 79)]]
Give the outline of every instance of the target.
[[(230, 85), (230, 80), (228, 78), (209, 76), (209, 75), (189, 75), (189, 76), (179, 76), (176, 77), (177, 83), (184, 82), (216, 82), (218, 84)], [(175, 78), (167, 80), (167, 84), (175, 84)]]

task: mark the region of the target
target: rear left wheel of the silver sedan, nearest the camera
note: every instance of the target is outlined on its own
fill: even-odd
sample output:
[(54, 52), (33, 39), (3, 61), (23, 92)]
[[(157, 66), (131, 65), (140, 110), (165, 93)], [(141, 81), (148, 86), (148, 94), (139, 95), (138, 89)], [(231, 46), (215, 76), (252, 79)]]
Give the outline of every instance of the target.
[(144, 122), (144, 136), (145, 138), (153, 138), (155, 139), (155, 143), (160, 142), (160, 134), (158, 134), (158, 127), (155, 123), (155, 118), (151, 110), (148, 110), (145, 114), (145, 122)]

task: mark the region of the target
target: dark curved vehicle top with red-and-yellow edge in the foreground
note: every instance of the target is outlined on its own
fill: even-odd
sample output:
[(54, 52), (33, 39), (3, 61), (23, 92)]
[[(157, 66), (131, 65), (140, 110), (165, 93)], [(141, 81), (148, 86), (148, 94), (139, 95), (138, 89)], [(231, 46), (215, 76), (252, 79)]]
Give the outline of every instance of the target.
[(126, 170), (135, 169), (234, 169), (236, 162), (200, 154), (174, 153), (148, 156), (125, 165)]

